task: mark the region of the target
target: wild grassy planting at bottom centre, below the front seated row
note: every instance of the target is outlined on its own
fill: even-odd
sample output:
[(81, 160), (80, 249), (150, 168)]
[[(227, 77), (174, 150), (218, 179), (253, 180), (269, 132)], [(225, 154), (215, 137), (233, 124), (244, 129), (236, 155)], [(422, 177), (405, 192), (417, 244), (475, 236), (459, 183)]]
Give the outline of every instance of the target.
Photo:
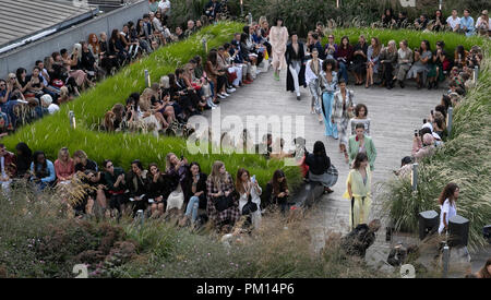
[[(279, 215), (263, 217), (262, 228), (243, 233), (227, 245), (219, 237), (178, 230), (149, 220), (140, 230), (127, 226), (129, 236), (143, 239), (139, 257), (113, 268), (115, 277), (158, 278), (325, 278), (385, 277), (363, 261), (349, 257), (334, 239), (321, 253), (312, 249), (303, 219), (287, 221)], [(141, 237), (141, 238), (139, 238)], [(142, 244), (141, 244), (142, 245)], [(390, 275), (388, 275), (390, 276)]]

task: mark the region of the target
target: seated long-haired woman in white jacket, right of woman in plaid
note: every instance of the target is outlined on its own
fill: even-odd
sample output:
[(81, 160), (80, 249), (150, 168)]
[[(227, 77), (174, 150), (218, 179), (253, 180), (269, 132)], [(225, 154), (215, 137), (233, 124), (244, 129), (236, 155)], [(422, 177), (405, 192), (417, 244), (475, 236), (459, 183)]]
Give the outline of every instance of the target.
[[(261, 226), (261, 193), (262, 189), (258, 183), (255, 177), (251, 178), (251, 175), (244, 168), (240, 168), (237, 171), (236, 177), (236, 191), (239, 193), (239, 211), (242, 215), (248, 216), (254, 228)], [(254, 206), (255, 205), (255, 206)], [(255, 207), (255, 211), (253, 211)]]

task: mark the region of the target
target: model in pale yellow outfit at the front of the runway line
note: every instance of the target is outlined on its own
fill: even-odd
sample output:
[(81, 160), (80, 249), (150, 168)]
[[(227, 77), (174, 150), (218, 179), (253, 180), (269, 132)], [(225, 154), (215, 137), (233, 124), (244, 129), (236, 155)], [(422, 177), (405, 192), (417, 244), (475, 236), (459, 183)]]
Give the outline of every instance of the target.
[[(359, 158), (361, 159), (361, 161), (359, 160)], [(346, 180), (347, 190), (343, 195), (344, 197), (351, 201), (349, 212), (349, 225), (351, 226), (351, 230), (359, 224), (368, 224), (370, 208), (372, 206), (372, 172), (370, 171), (370, 165), (368, 164), (367, 155), (357, 155), (354, 166), (355, 168), (349, 171), (348, 179)], [(364, 173), (366, 181), (363, 181), (362, 176)]]

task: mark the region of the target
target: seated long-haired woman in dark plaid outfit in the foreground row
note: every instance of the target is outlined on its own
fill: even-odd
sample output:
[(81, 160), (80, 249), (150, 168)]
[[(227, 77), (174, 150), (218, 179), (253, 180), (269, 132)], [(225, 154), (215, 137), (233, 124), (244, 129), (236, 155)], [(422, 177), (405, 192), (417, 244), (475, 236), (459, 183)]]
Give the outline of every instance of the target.
[(239, 199), (233, 191), (233, 180), (225, 169), (225, 164), (216, 160), (206, 179), (206, 212), (218, 230), (227, 231), (240, 218)]

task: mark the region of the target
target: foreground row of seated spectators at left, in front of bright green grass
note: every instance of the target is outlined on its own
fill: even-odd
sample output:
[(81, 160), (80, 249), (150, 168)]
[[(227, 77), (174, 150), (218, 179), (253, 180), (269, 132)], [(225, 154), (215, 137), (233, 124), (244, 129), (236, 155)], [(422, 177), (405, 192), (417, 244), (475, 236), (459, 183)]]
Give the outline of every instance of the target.
[(135, 216), (142, 209), (154, 217), (176, 214), (182, 225), (211, 219), (221, 228), (233, 226), (241, 215), (259, 226), (265, 209), (274, 211), (277, 205), (286, 212), (288, 205), (288, 184), (280, 169), (274, 172), (263, 193), (255, 176), (243, 168), (238, 168), (233, 180), (224, 163), (215, 161), (206, 175), (197, 163), (173, 153), (167, 154), (161, 169), (157, 164), (144, 168), (136, 159), (124, 171), (110, 159), (99, 168), (83, 151), (71, 157), (68, 148), (61, 148), (55, 163), (41, 151), (33, 153), (25, 143), (19, 143), (15, 151), (11, 153), (0, 144), (3, 195), (10, 196), (21, 182), (29, 182), (36, 192), (82, 184), (84, 196), (72, 204), (79, 216), (96, 212), (107, 217), (120, 217), (123, 213)]

